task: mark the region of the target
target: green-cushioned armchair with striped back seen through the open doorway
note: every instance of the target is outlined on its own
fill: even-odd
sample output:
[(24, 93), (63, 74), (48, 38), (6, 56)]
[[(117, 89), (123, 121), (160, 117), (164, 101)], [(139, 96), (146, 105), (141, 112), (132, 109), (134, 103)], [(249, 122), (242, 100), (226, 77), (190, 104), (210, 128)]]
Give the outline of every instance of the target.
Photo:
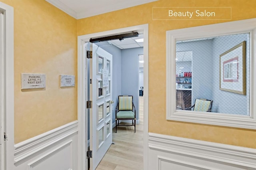
[[(131, 125), (120, 125), (119, 120), (132, 120)], [(133, 104), (133, 96), (118, 96), (116, 105), (116, 130), (117, 126), (134, 126), (136, 132), (136, 109)]]

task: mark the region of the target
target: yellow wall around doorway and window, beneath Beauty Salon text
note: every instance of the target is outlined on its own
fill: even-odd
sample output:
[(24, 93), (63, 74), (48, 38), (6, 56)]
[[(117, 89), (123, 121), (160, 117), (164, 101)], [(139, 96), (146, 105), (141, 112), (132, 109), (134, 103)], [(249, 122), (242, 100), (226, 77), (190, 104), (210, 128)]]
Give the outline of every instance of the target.
[(256, 148), (256, 130), (166, 120), (166, 31), (228, 22), (228, 20), (152, 20), (152, 7), (232, 7), (231, 21), (234, 21), (256, 18), (255, 1), (159, 0), (80, 19), (77, 27), (78, 35), (84, 35), (149, 24), (149, 132)]

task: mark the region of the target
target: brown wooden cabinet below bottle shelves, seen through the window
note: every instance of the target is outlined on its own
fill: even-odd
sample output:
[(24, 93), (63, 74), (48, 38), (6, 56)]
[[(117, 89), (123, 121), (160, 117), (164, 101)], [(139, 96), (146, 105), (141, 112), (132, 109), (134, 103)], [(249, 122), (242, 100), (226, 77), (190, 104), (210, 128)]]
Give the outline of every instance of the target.
[(185, 110), (191, 106), (191, 90), (176, 90), (176, 109)]

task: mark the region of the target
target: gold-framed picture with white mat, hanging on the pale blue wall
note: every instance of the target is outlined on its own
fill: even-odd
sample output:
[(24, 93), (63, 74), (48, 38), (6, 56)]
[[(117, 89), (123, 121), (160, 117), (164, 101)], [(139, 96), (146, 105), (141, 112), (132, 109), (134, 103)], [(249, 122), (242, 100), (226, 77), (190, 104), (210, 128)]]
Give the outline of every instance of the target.
[(220, 90), (246, 95), (246, 41), (220, 55)]

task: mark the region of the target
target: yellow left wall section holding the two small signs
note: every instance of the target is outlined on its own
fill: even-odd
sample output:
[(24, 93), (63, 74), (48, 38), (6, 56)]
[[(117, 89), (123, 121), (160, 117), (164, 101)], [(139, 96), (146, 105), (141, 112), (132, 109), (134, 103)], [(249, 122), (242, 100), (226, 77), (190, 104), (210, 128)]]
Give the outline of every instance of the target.
[[(45, 0), (0, 0), (14, 7), (15, 143), (77, 120), (76, 19)], [(21, 90), (21, 73), (46, 74), (46, 88)]]

